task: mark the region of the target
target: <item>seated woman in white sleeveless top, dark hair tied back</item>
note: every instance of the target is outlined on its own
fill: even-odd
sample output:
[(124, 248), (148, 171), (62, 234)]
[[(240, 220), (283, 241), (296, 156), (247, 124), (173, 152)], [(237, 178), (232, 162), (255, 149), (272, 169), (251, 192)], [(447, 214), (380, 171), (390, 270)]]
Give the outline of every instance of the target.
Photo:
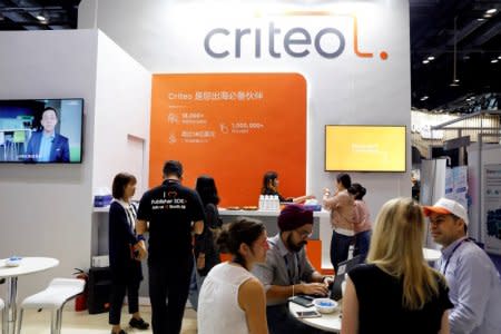
[(266, 261), (264, 225), (239, 218), (224, 226), (217, 244), (233, 257), (216, 265), (202, 286), (198, 334), (267, 334), (264, 287), (250, 273)]

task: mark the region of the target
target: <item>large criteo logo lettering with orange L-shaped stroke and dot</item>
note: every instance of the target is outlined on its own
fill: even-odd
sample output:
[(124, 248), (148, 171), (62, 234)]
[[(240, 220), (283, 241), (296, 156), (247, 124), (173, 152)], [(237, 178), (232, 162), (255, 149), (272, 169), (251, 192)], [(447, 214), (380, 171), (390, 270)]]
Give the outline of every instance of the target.
[[(261, 28), (254, 30), (250, 28), (237, 28), (234, 31), (226, 28), (215, 28), (205, 36), (204, 49), (208, 56), (220, 59), (228, 57), (242, 58), (243, 49), (247, 50), (247, 48), (253, 47), (254, 57), (261, 58), (264, 51), (262, 48), (262, 36), (263, 31)], [(332, 27), (323, 28), (315, 35), (312, 35), (304, 28), (291, 28), (282, 37), (282, 29), (275, 27), (274, 22), (269, 22), (267, 37), (267, 52), (273, 58), (282, 58), (283, 53), (278, 48), (281, 41), (283, 51), (294, 58), (304, 58), (315, 51), (326, 59), (334, 59), (340, 57), (346, 47), (344, 35)], [(223, 47), (215, 47), (215, 40)], [(353, 29), (353, 50), (357, 57), (373, 57), (372, 52), (361, 52), (358, 50), (356, 19)], [(386, 60), (387, 52), (381, 51), (380, 58)]]

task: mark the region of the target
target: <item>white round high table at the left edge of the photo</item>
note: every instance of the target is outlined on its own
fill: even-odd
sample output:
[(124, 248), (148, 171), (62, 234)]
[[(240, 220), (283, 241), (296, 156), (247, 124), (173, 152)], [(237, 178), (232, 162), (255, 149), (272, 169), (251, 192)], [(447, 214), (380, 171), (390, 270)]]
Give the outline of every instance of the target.
[(7, 278), (7, 299), (3, 315), (3, 334), (13, 334), (16, 332), (16, 299), (18, 296), (18, 276), (29, 275), (47, 271), (59, 265), (59, 261), (51, 257), (22, 257), (19, 266), (8, 267), (7, 258), (0, 259), (0, 278)]

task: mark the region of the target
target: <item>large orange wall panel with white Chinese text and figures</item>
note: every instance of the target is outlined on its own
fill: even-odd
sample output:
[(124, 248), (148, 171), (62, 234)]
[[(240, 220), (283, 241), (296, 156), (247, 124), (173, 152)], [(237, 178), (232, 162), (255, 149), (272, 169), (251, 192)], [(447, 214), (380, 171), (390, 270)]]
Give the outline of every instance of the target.
[(278, 173), (283, 196), (306, 178), (306, 82), (297, 73), (154, 75), (149, 185), (165, 160), (184, 184), (216, 180), (222, 206), (257, 205), (263, 175)]

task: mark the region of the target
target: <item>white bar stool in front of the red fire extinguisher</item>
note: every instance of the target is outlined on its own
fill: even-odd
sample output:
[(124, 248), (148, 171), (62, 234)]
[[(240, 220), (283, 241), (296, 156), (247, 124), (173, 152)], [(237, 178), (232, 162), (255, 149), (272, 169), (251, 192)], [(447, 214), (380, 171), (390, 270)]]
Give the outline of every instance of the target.
[(85, 281), (78, 278), (53, 278), (49, 286), (35, 295), (28, 296), (21, 303), (18, 334), (21, 333), (22, 313), (24, 308), (52, 311), (50, 333), (61, 333), (62, 306), (65, 303), (84, 292)]

